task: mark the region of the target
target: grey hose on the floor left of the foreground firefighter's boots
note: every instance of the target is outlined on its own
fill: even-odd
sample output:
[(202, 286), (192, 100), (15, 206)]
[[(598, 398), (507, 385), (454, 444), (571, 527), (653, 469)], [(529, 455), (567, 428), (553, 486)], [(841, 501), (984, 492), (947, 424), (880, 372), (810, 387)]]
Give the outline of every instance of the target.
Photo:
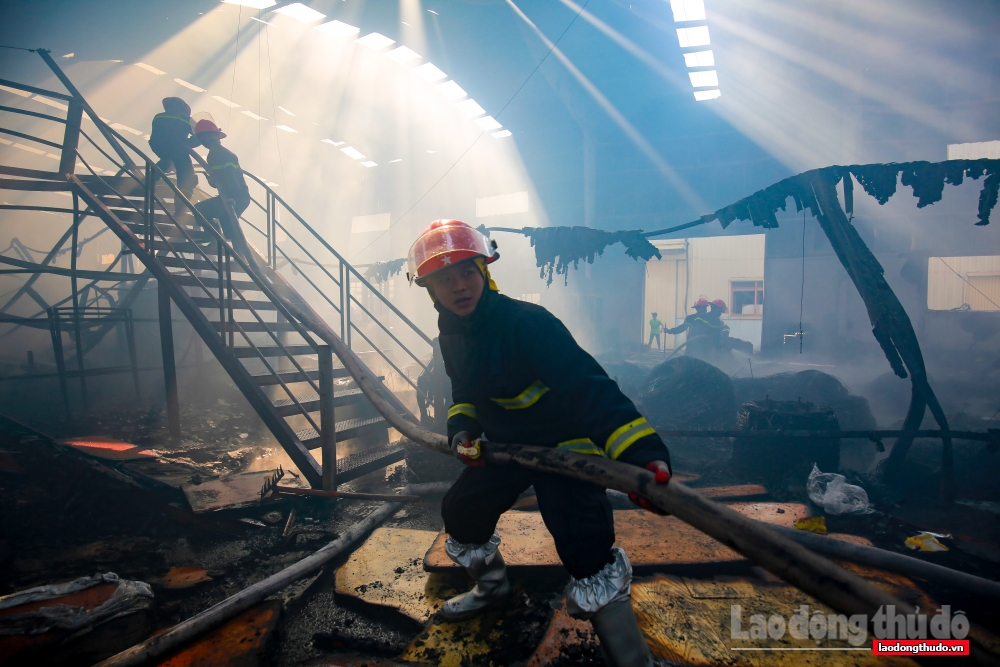
[[(441, 493), (446, 491), (449, 486), (450, 483), (411, 484), (403, 489), (403, 492), (407, 494)], [(258, 581), (248, 588), (244, 588), (236, 595), (226, 598), (199, 614), (195, 614), (186, 621), (181, 621), (169, 630), (154, 635), (144, 642), (99, 662), (94, 667), (141, 665), (183, 646), (195, 637), (222, 625), (230, 618), (246, 611), (267, 597), (274, 595), (285, 586), (298, 581), (327, 564), (346, 551), (357, 540), (367, 535), (369, 531), (395, 514), (401, 507), (402, 503), (385, 503), (344, 531), (339, 538), (312, 555), (306, 556), (297, 563), (286, 567), (284, 570), (262, 581)]]

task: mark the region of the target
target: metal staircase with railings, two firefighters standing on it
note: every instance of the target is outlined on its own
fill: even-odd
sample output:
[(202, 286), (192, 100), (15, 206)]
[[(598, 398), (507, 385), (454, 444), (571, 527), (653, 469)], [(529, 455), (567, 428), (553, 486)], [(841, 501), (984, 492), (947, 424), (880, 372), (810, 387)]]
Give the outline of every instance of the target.
[[(249, 251), (234, 250), (233, 243), (197, 210), (186, 208), (184, 213), (174, 215), (175, 201), (185, 201), (174, 182), (152, 158), (97, 116), (47, 52), (37, 53), (68, 93), (4, 80), (0, 85), (8, 91), (22, 91), (16, 93), (22, 97), (58, 100), (65, 106), (66, 115), (63, 118), (23, 107), (0, 106), (3, 115), (22, 121), (19, 129), (0, 127), (0, 137), (13, 136), (26, 142), (22, 146), (39, 146), (39, 150), (57, 148), (59, 169), (40, 171), (0, 165), (0, 190), (68, 193), (73, 206), (63, 211), (72, 214), (74, 244), (81, 221), (95, 216), (121, 240), (122, 255), (134, 257), (156, 280), (171, 432), (180, 431), (172, 303), (312, 486), (335, 488), (338, 483), (401, 460), (401, 444), (389, 442), (388, 425), (314, 329), (327, 327), (328, 320), (336, 321), (337, 335), (352, 348), (352, 354), (368, 355), (369, 366), (377, 364), (393, 372), (417, 392), (420, 390), (416, 383), (400, 368), (398, 359), (412, 360), (418, 369), (425, 370), (422, 357), (430, 353), (430, 338), (273, 189), (252, 174), (246, 175), (254, 183), (253, 202), (240, 220), (246, 237), (236, 244)], [(52, 133), (50, 129), (39, 129), (39, 121), (64, 126), (62, 143), (42, 139), (39, 135)], [(89, 132), (84, 121), (89, 121), (96, 132)], [(35, 131), (25, 132), (25, 127)], [(112, 168), (98, 167), (98, 162)], [(204, 196), (196, 192), (192, 199)], [(45, 207), (22, 202), (4, 208), (30, 211)], [(254, 241), (265, 250), (258, 251)], [(74, 252), (74, 271), (75, 256)], [(54, 270), (46, 268), (48, 262), (27, 268), (32, 266), (41, 272)], [(109, 271), (107, 278), (84, 273), (94, 279), (95, 285), (103, 284), (102, 280), (124, 285), (119, 289), (134, 286), (140, 279), (134, 273), (126, 276)], [(87, 304), (79, 302), (76, 276), (72, 277), (72, 291), (72, 307), (85, 308)], [(318, 324), (303, 324), (302, 318), (292, 312), (287, 296), (279, 296), (278, 292), (293, 295), (310, 310), (311, 321)], [(327, 336), (331, 331), (327, 327)], [(352, 346), (352, 339), (357, 345)], [(386, 349), (390, 346), (394, 354)], [(424, 346), (426, 351), (418, 354), (412, 349), (416, 346)], [(388, 389), (385, 392), (389, 393)], [(368, 436), (367, 448), (337, 457), (338, 442), (362, 436)], [(323, 465), (311, 454), (316, 449), (323, 452)]]

